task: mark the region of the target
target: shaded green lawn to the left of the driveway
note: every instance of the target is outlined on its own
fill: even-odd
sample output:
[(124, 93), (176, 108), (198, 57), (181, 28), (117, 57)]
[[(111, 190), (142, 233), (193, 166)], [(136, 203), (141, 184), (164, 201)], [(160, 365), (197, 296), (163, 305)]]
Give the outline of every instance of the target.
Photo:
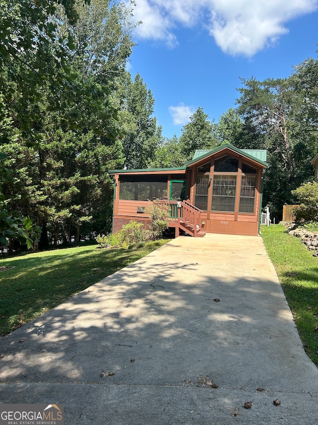
[(31, 253), (0, 260), (0, 336), (134, 263), (168, 240), (128, 250), (95, 246)]

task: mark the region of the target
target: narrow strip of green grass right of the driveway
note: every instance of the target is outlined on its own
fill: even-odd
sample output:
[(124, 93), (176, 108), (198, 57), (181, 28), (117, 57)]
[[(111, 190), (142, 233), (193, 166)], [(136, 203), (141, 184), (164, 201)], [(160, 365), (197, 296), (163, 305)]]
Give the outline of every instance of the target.
[(318, 258), (281, 225), (264, 226), (261, 233), (304, 348), (318, 365)]

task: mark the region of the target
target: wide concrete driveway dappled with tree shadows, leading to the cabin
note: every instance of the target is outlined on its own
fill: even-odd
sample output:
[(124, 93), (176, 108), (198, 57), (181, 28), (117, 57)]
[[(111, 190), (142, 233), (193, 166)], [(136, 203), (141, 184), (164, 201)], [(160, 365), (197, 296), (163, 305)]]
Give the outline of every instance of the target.
[(318, 369), (260, 237), (179, 237), (0, 354), (0, 402), (62, 403), (66, 425), (317, 423)]

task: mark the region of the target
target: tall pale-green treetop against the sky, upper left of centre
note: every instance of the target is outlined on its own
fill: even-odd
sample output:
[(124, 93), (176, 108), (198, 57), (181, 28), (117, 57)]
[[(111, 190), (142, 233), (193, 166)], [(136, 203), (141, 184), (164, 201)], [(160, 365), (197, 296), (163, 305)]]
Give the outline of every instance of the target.
[(115, 77), (125, 72), (127, 58), (135, 45), (132, 32), (138, 22), (132, 21), (133, 2), (91, 0), (87, 4), (76, 0), (76, 22), (64, 19), (64, 9), (59, 10), (58, 32), (62, 37), (66, 34), (72, 37), (72, 62), (82, 74), (94, 75), (99, 82), (113, 85)]

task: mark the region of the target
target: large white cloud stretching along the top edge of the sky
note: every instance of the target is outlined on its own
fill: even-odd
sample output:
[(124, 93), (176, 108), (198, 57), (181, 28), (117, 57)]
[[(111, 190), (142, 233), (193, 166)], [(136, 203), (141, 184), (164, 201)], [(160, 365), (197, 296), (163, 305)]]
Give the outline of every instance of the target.
[(285, 24), (318, 0), (136, 0), (137, 36), (177, 44), (176, 26), (201, 25), (226, 53), (252, 56), (288, 32)]

